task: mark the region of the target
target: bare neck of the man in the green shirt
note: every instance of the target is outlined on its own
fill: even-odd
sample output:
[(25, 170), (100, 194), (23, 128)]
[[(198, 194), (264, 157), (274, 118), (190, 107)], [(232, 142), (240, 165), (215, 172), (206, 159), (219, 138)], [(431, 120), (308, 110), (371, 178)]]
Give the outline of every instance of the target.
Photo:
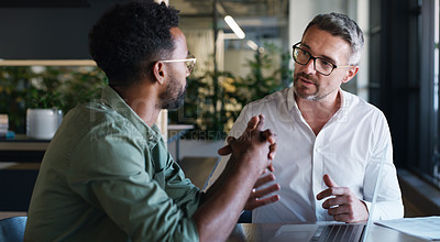
[(113, 87), (113, 89), (148, 127), (156, 122), (161, 109), (156, 106), (154, 90), (143, 88), (141, 85)]

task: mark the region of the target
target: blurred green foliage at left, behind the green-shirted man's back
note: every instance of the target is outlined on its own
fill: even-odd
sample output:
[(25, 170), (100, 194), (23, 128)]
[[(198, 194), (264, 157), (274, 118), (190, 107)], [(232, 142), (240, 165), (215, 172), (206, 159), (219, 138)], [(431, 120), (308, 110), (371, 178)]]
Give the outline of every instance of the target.
[(25, 132), (28, 108), (57, 108), (64, 113), (77, 103), (97, 99), (107, 79), (98, 67), (0, 67), (0, 113), (10, 130)]

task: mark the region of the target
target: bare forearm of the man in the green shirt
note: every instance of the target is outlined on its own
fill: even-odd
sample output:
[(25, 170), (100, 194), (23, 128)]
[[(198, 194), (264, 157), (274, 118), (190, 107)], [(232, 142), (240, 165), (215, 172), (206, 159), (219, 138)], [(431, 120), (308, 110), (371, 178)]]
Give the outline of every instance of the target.
[(231, 233), (260, 174), (258, 169), (246, 165), (250, 162), (229, 161), (207, 191), (204, 205), (194, 215), (200, 241), (224, 241)]

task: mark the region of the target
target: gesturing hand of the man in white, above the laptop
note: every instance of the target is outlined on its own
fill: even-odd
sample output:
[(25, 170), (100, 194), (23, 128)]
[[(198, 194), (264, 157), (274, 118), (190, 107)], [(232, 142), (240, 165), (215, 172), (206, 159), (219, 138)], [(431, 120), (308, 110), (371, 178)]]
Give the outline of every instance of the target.
[(369, 219), (365, 204), (350, 188), (338, 186), (328, 174), (323, 175), (322, 179), (329, 188), (319, 193), (317, 199), (322, 200), (328, 198), (322, 204), (322, 208), (328, 209), (336, 221), (360, 222)]

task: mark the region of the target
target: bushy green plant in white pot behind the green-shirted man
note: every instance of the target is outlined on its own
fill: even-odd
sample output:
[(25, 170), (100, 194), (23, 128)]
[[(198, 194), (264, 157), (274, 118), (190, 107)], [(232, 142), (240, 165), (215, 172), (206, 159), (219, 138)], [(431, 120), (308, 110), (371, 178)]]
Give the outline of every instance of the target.
[(28, 87), (26, 135), (51, 140), (63, 113), (99, 98), (106, 75), (95, 66), (53, 67), (36, 72)]

